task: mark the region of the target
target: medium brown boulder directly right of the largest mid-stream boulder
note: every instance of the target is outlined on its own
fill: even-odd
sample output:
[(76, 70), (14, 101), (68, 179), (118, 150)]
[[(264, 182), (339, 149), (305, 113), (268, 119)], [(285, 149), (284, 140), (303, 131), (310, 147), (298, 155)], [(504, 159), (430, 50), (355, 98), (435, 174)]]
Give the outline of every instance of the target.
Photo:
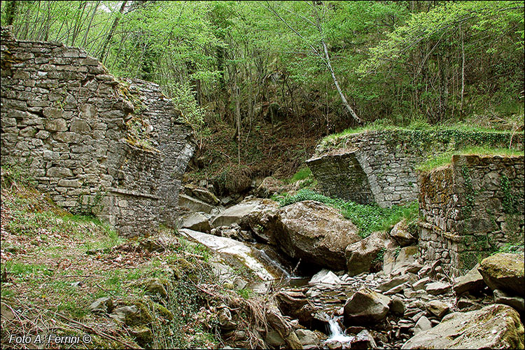
[[(382, 262), (386, 232), (373, 232), (372, 235), (346, 246), (346, 268), (349, 276), (356, 276), (361, 272), (370, 272), (380, 259)], [(379, 262), (379, 263), (380, 263)]]

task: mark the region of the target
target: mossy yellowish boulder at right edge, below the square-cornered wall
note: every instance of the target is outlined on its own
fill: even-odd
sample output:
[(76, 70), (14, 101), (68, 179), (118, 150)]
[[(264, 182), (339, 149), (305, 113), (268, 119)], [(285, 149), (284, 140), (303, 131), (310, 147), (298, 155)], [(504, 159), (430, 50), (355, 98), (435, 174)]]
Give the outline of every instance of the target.
[(525, 296), (524, 254), (498, 253), (484, 258), (479, 273), (492, 290)]

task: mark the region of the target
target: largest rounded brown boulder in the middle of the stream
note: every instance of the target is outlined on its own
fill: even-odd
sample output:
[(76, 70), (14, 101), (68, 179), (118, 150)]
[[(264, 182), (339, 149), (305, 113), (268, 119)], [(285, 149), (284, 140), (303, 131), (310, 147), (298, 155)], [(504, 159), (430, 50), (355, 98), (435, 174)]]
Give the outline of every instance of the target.
[(361, 239), (356, 225), (337, 209), (311, 200), (276, 211), (273, 230), (276, 243), (290, 257), (335, 270), (346, 268), (346, 246)]

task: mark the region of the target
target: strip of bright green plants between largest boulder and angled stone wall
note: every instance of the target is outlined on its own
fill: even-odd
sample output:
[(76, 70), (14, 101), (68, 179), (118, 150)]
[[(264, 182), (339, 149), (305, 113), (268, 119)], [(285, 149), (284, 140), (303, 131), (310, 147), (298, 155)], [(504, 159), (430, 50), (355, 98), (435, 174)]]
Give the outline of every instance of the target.
[(304, 200), (315, 200), (328, 204), (339, 209), (344, 216), (348, 218), (359, 228), (359, 235), (367, 237), (375, 231), (390, 230), (393, 225), (407, 218), (412, 221), (419, 214), (419, 205), (417, 202), (411, 202), (405, 205), (394, 206), (391, 208), (380, 208), (377, 205), (358, 204), (356, 202), (346, 202), (335, 198), (321, 195), (309, 189), (302, 189), (296, 195), (286, 195), (276, 197), (281, 206), (301, 202)]

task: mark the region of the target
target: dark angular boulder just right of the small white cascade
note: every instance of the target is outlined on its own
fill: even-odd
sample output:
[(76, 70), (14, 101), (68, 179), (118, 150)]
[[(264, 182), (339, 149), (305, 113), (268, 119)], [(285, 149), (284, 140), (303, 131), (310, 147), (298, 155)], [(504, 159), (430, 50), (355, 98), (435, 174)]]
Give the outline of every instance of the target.
[(344, 304), (344, 322), (349, 325), (374, 324), (386, 317), (391, 300), (369, 288), (358, 290)]

